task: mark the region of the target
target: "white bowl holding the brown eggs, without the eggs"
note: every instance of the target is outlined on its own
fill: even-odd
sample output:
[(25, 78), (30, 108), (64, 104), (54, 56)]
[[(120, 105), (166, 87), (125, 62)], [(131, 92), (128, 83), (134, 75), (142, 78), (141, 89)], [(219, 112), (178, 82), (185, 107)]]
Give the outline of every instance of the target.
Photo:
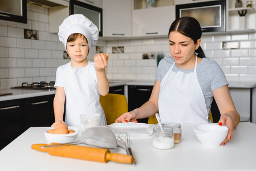
[(48, 131), (52, 128), (46, 129), (44, 131), (44, 136), (46, 137), (46, 140), (48, 141), (48, 144), (51, 143), (72, 143), (77, 141), (78, 139), (78, 133), (79, 129), (76, 127), (68, 127), (68, 130), (73, 129), (75, 132), (73, 133), (67, 133), (67, 134), (53, 134), (53, 133), (48, 133)]

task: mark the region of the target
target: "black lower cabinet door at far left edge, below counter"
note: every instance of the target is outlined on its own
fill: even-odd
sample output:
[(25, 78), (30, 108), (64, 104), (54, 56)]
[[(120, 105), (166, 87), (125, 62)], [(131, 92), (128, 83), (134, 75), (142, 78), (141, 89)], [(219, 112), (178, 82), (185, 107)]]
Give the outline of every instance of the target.
[(0, 101), (0, 150), (23, 133), (22, 99)]

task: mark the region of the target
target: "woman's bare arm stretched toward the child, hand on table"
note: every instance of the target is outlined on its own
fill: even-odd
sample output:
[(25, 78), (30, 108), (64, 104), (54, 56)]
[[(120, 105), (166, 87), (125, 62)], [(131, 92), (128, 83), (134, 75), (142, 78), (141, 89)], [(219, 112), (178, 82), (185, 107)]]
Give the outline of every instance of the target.
[(160, 82), (156, 80), (149, 100), (143, 105), (141, 105), (141, 107), (121, 115), (119, 118), (116, 119), (116, 123), (120, 123), (120, 122), (127, 123), (129, 121), (135, 122), (137, 119), (155, 115), (159, 109), (158, 108), (159, 91), (160, 91)]

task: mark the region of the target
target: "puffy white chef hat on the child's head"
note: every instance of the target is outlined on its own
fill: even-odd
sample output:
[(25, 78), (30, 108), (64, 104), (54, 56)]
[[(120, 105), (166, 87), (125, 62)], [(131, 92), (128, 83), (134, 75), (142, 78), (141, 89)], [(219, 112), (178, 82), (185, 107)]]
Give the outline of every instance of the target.
[(59, 40), (64, 44), (66, 51), (67, 38), (73, 33), (80, 33), (86, 36), (90, 50), (91, 46), (94, 46), (99, 39), (99, 30), (97, 26), (82, 14), (68, 16), (59, 26)]

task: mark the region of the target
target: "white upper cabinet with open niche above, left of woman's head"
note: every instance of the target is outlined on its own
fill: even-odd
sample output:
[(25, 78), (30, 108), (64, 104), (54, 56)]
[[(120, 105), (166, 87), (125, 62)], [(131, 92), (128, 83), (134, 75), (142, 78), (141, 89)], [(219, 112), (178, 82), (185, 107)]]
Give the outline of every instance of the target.
[(145, 9), (144, 1), (133, 1), (132, 36), (167, 36), (175, 19), (174, 1), (161, 1)]

